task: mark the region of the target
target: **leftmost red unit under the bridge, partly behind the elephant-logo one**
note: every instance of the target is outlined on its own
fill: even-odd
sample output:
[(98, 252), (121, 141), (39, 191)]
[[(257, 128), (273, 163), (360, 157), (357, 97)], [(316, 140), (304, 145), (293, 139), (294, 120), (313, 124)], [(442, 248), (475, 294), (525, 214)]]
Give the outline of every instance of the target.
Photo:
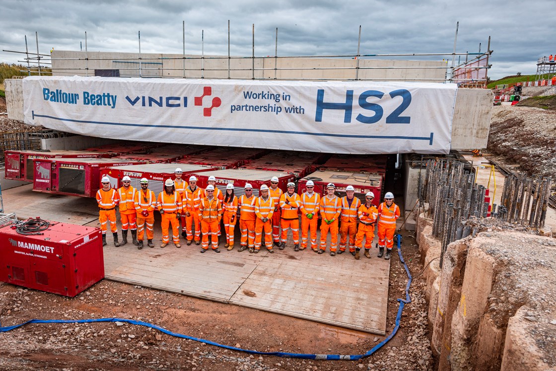
[(85, 151), (6, 151), (6, 179), (32, 182), (33, 161), (36, 159), (91, 159), (101, 157), (100, 152)]

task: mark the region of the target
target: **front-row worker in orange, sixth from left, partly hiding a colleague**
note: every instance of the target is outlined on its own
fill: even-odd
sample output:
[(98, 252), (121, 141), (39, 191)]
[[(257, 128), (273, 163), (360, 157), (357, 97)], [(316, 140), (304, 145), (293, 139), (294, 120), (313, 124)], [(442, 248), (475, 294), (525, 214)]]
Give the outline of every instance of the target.
[(201, 200), (199, 206), (199, 219), (201, 219), (201, 233), (203, 242), (201, 253), (209, 249), (209, 234), (211, 236), (212, 250), (220, 253), (218, 248), (218, 231), (220, 230), (220, 220), (222, 219), (222, 205), (220, 200), (214, 196), (214, 186), (207, 185), (206, 196)]

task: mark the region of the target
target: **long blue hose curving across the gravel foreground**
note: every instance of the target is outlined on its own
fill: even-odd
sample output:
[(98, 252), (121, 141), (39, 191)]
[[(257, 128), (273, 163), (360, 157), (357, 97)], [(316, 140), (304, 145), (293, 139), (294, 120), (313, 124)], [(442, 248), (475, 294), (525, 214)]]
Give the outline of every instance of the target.
[(176, 338), (182, 338), (182, 339), (189, 339), (189, 340), (194, 340), (196, 342), (200, 342), (200, 343), (205, 343), (205, 344), (210, 344), (210, 345), (216, 345), (216, 347), (220, 347), (220, 348), (225, 348), (225, 349), (230, 349), (230, 350), (237, 350), (239, 352), (246, 352), (249, 354), (261, 354), (261, 355), (275, 355), (276, 357), (286, 357), (286, 358), (301, 358), (301, 359), (326, 359), (326, 360), (336, 360), (336, 359), (345, 359), (345, 360), (359, 360), (362, 358), (366, 358), (369, 357), (371, 354), (375, 353), (377, 350), (379, 350), (381, 347), (383, 347), (384, 344), (388, 343), (388, 341), (394, 337), (394, 335), (396, 334), (396, 332), (398, 332), (398, 328), (400, 327), (400, 319), (401, 319), (401, 313), (404, 310), (404, 306), (405, 304), (408, 304), (411, 302), (410, 296), (409, 296), (409, 285), (411, 284), (411, 274), (409, 273), (409, 269), (408, 266), (405, 264), (404, 258), (401, 256), (401, 235), (397, 235), (397, 242), (398, 242), (398, 255), (400, 257), (400, 261), (401, 263), (404, 264), (404, 268), (406, 273), (408, 274), (408, 284), (405, 286), (405, 300), (404, 299), (398, 299), (398, 302), (400, 303), (400, 306), (398, 308), (398, 315), (396, 315), (396, 325), (394, 327), (394, 330), (390, 333), (390, 335), (388, 335), (388, 337), (386, 337), (382, 342), (378, 343), (375, 345), (375, 347), (373, 349), (370, 349), (368, 352), (366, 352), (365, 354), (352, 354), (352, 355), (341, 355), (341, 354), (303, 354), (303, 353), (286, 353), (286, 352), (257, 352), (256, 350), (249, 350), (249, 349), (241, 349), (241, 348), (236, 348), (236, 347), (230, 347), (229, 345), (224, 345), (224, 344), (219, 344), (219, 343), (215, 343), (215, 342), (211, 342), (210, 340), (205, 340), (205, 339), (200, 339), (200, 338), (194, 338), (194, 337), (190, 337), (187, 335), (183, 335), (183, 334), (179, 334), (179, 333), (175, 333), (175, 332), (171, 332), (169, 330), (166, 330), (160, 326), (157, 325), (153, 325), (152, 323), (148, 323), (148, 322), (143, 322), (143, 321), (136, 321), (136, 320), (132, 320), (132, 319), (125, 319), (125, 318), (96, 318), (96, 319), (50, 319), (50, 320), (46, 320), (46, 319), (31, 319), (28, 320), (27, 322), (18, 324), (18, 325), (13, 325), (13, 326), (7, 326), (7, 327), (0, 327), (0, 333), (4, 333), (4, 332), (8, 332), (14, 329), (17, 329), (19, 327), (22, 327), (24, 325), (27, 324), (32, 324), (32, 323), (95, 323), (95, 322), (125, 322), (125, 323), (130, 323), (133, 325), (141, 325), (141, 326), (145, 326), (145, 327), (150, 327), (153, 328), (155, 330), (158, 330), (162, 333), (171, 335), (173, 337)]

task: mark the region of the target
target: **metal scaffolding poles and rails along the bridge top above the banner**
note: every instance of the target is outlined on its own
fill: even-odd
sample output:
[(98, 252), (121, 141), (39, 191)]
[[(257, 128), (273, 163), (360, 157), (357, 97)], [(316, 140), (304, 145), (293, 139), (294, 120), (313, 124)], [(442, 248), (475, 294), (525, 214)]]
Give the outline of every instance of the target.
[[(278, 55), (278, 28), (276, 28), (276, 36), (275, 36), (275, 55), (274, 56), (262, 56), (256, 57), (255, 56), (255, 24), (252, 25), (252, 53), (251, 56), (231, 56), (230, 55), (230, 21), (228, 21), (228, 50), (227, 56), (205, 56), (205, 42), (204, 42), (204, 30), (201, 32), (201, 55), (200, 56), (186, 56), (185, 54), (185, 21), (182, 22), (182, 37), (183, 37), (183, 52), (182, 55), (179, 57), (147, 57), (141, 55), (141, 32), (137, 33), (138, 35), (138, 57), (136, 58), (90, 58), (88, 56), (88, 48), (87, 48), (87, 32), (85, 32), (85, 58), (51, 58), (51, 55), (48, 54), (41, 54), (39, 53), (39, 44), (38, 44), (38, 33), (35, 32), (36, 36), (36, 44), (37, 44), (37, 52), (32, 53), (28, 51), (27, 47), (27, 36), (25, 37), (25, 46), (26, 50), (23, 51), (11, 51), (11, 50), (3, 50), (5, 52), (12, 52), (12, 53), (22, 53), (26, 55), (24, 62), (27, 63), (27, 69), (22, 70), (21, 72), (27, 72), (29, 76), (32, 74), (38, 74), (39, 76), (44, 75), (46, 73), (56, 73), (57, 71), (74, 71), (74, 72), (85, 72), (85, 76), (90, 76), (90, 68), (88, 63), (89, 61), (112, 61), (112, 63), (129, 63), (130, 67), (121, 67), (118, 68), (119, 70), (128, 71), (122, 75), (124, 76), (133, 76), (133, 77), (143, 77), (143, 78), (178, 78), (178, 76), (164, 76), (163, 71), (183, 71), (182, 78), (206, 78), (206, 72), (212, 71), (227, 71), (227, 78), (230, 80), (235, 79), (235, 77), (231, 77), (232, 71), (251, 71), (251, 80), (269, 80), (268, 77), (264, 77), (264, 72), (272, 72), (274, 71), (274, 78), (270, 78), (272, 80), (292, 80), (292, 78), (280, 78), (277, 77), (278, 71), (326, 71), (326, 70), (351, 70), (353, 71), (353, 78), (295, 78), (295, 80), (310, 80), (310, 81), (330, 81), (330, 80), (340, 80), (340, 81), (370, 81), (370, 80), (378, 80), (378, 81), (431, 81), (431, 82), (453, 82), (458, 83), (459, 85), (463, 86), (473, 86), (473, 87), (485, 87), (486, 81), (488, 81), (488, 70), (492, 65), (488, 64), (488, 59), (490, 55), (492, 55), (492, 50), (490, 50), (490, 37), (489, 37), (489, 47), (486, 52), (456, 52), (456, 41), (458, 37), (458, 27), (459, 22), (456, 24), (456, 31), (455, 31), (455, 38), (454, 38), (454, 50), (451, 52), (443, 52), (443, 53), (377, 53), (377, 54), (370, 54), (370, 53), (360, 53), (361, 47), (361, 26), (359, 26), (359, 38), (358, 38), (358, 45), (357, 45), (357, 52), (355, 54), (346, 54), (346, 55), (300, 55), (300, 56), (279, 56)], [(479, 44), (480, 45), (480, 44)], [(461, 63), (456, 66), (455, 59), (456, 56), (459, 57), (461, 60), (462, 57), (465, 57), (465, 63)], [(380, 66), (380, 67), (368, 67), (368, 66), (361, 66), (360, 60), (361, 59), (373, 59), (379, 60), (379, 58), (383, 57), (444, 57), (446, 60), (445, 66)], [(448, 66), (448, 60), (451, 57), (451, 66)], [(473, 61), (486, 61), (486, 63), (468, 63), (469, 58), (472, 58)], [(282, 58), (332, 58), (332, 59), (350, 59), (356, 60), (355, 66), (353, 67), (278, 67), (277, 61)], [(153, 66), (153, 65), (162, 65), (162, 61), (164, 60), (182, 60), (182, 68), (163, 68), (162, 67), (146, 67), (146, 66)], [(206, 68), (205, 61), (207, 60), (222, 60), (227, 62), (227, 68)], [(232, 60), (251, 60), (251, 67), (250, 68), (232, 68), (231, 61)], [(255, 60), (262, 60), (262, 61), (274, 61), (274, 67), (256, 67)], [(79, 68), (51, 68), (51, 71), (41, 71), (41, 65), (51, 65), (53, 61), (85, 61), (85, 67)], [(187, 68), (187, 62), (192, 61), (200, 61), (201, 68)], [(438, 60), (436, 60), (438, 62)], [(133, 63), (135, 62), (135, 63)], [(266, 63), (265, 63), (266, 64)], [(222, 63), (224, 65), (224, 63)], [(269, 66), (271, 63), (269, 63)], [(360, 76), (360, 72), (362, 70), (411, 70), (411, 69), (420, 69), (420, 70), (427, 70), (427, 69), (439, 69), (445, 70), (444, 78), (364, 78)], [(162, 71), (163, 70), (163, 71)], [(197, 71), (198, 75), (194, 77), (186, 77), (186, 72), (195, 72)], [(479, 72), (478, 72), (479, 71)], [(262, 72), (262, 77), (256, 77), (255, 72)], [(471, 77), (470, 73), (473, 72), (474, 75)], [(240, 77), (237, 79), (245, 80), (244, 77)]]

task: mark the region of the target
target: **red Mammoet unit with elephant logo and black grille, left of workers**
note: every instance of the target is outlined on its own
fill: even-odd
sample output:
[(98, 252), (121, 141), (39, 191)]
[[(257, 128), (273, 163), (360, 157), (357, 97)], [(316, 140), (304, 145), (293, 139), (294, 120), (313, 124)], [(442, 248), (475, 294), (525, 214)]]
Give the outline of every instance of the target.
[[(104, 168), (143, 164), (144, 161), (118, 159), (44, 159), (35, 160), (33, 191), (58, 195), (95, 197)], [(112, 187), (118, 185), (111, 177)]]

